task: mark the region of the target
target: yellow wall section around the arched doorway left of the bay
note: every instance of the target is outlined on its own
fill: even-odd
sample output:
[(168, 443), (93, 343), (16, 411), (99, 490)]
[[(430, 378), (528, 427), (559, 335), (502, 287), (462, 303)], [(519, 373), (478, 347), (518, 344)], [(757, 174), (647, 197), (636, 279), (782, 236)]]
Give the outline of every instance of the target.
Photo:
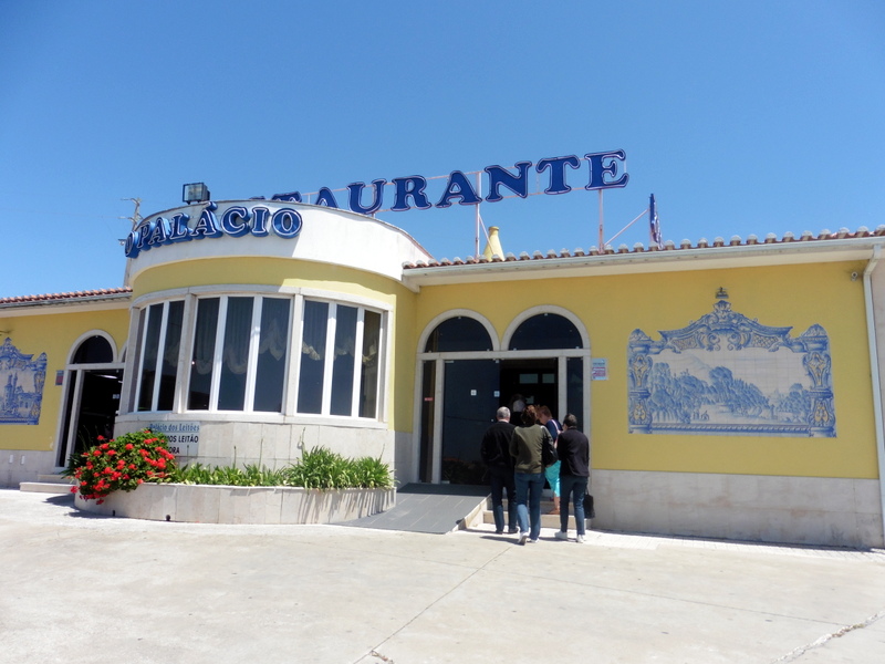
[(55, 372), (64, 370), (74, 342), (87, 332), (102, 330), (114, 339), (117, 356), (126, 343), (128, 302), (110, 311), (77, 311), (70, 305), (34, 308), (34, 311), (39, 313), (3, 318), (0, 310), (0, 330), (9, 330), (0, 335), (0, 341), (8, 336), (19, 352), (34, 359), (46, 354), (40, 421), (35, 425), (0, 424), (0, 449), (55, 449), (64, 395), (64, 387), (55, 385)]

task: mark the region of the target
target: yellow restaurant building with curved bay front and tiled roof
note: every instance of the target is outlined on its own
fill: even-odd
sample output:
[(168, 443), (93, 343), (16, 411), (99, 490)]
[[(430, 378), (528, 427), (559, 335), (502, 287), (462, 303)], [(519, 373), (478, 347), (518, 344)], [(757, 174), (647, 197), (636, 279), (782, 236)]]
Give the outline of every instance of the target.
[(304, 203), (140, 228), (124, 288), (0, 299), (0, 485), (146, 426), (185, 460), (481, 483), (520, 395), (590, 436), (595, 528), (885, 546), (885, 227), (464, 261)]

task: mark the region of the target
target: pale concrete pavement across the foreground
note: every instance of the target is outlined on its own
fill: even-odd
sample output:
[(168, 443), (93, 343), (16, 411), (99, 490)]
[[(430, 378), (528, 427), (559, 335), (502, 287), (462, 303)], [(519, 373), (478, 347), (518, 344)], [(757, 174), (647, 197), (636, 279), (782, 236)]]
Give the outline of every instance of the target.
[(186, 525), (0, 490), (0, 662), (885, 662), (885, 554)]

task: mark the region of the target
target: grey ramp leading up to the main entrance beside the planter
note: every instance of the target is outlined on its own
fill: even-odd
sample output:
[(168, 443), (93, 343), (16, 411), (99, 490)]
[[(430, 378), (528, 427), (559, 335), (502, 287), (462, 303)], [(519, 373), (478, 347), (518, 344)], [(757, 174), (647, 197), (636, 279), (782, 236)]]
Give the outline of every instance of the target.
[(393, 509), (337, 526), (441, 535), (458, 529), (467, 516), (485, 506), (488, 495), (488, 487), (408, 484), (397, 489)]

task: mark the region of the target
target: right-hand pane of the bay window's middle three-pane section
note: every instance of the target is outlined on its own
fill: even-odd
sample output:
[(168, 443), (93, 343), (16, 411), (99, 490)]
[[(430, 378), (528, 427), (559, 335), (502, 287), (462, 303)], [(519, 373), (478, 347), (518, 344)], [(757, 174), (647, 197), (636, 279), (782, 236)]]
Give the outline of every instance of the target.
[(291, 300), (263, 298), (261, 338), (258, 342), (253, 408), (269, 413), (283, 409), (285, 365), (289, 361), (289, 309)]

